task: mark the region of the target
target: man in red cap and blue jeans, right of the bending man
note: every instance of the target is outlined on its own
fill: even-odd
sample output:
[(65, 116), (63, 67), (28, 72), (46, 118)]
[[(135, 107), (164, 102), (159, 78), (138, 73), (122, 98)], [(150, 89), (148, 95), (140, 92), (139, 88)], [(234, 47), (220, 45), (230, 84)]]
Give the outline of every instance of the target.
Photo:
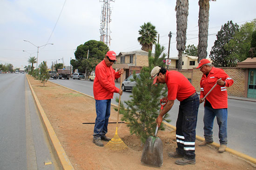
[(227, 88), (234, 81), (225, 73), (223, 69), (212, 67), (208, 59), (202, 59), (196, 69), (202, 71), (202, 79), (200, 82), (201, 93), (200, 103), (203, 102), (203, 97), (217, 83), (216, 87), (205, 98), (204, 102), (204, 141), (199, 146), (205, 146), (213, 142), (212, 128), (215, 117), (219, 125), (219, 152), (225, 151), (228, 143), (227, 137), (227, 119), (228, 119), (228, 93)]

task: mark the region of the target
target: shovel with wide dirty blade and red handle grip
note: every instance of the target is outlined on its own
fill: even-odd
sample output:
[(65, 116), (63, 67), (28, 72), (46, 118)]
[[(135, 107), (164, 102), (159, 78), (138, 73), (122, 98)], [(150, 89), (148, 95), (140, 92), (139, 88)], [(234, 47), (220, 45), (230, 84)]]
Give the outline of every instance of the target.
[[(166, 105), (162, 105), (162, 100), (160, 101), (161, 110)], [(155, 128), (155, 136), (149, 136), (146, 140), (146, 143), (143, 147), (142, 156), (141, 156), (141, 163), (156, 167), (161, 167), (163, 164), (163, 153), (162, 153), (162, 140), (156, 137), (158, 131), (158, 126)]]

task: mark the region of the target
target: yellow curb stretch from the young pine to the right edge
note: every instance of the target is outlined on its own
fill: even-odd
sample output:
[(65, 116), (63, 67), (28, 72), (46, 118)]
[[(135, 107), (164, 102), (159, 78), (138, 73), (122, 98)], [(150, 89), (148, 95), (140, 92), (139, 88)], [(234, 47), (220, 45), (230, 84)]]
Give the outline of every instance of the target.
[[(166, 123), (166, 122), (162, 122), (163, 124), (165, 124), (166, 126), (169, 126), (170, 128), (172, 128), (172, 129), (174, 129), (174, 130), (176, 130), (176, 127), (175, 126), (172, 126), (172, 125), (170, 125), (170, 124), (168, 124), (168, 123)], [(200, 136), (195, 136), (195, 138), (197, 139), (197, 140), (200, 140), (200, 141), (204, 141), (204, 138), (202, 138), (202, 137), (200, 137)], [(213, 142), (213, 143), (211, 143), (211, 144), (208, 144), (208, 145), (212, 145), (212, 146), (215, 146), (215, 147), (220, 147), (220, 144), (217, 144), (217, 143), (215, 143), (215, 142)], [(230, 149), (230, 148), (226, 148), (226, 151), (227, 152), (229, 152), (229, 153), (231, 153), (231, 154), (233, 154), (233, 155), (236, 155), (236, 156), (238, 156), (238, 157), (241, 157), (241, 158), (243, 158), (243, 159), (245, 159), (245, 160), (247, 160), (247, 161), (249, 161), (249, 162), (251, 162), (251, 163), (253, 163), (253, 164), (256, 164), (256, 158), (253, 158), (253, 157), (250, 157), (250, 156), (248, 156), (248, 155), (245, 155), (245, 154), (243, 154), (243, 153), (241, 153), (241, 152), (239, 152), (239, 151), (235, 151), (235, 150), (233, 150), (233, 149)]]

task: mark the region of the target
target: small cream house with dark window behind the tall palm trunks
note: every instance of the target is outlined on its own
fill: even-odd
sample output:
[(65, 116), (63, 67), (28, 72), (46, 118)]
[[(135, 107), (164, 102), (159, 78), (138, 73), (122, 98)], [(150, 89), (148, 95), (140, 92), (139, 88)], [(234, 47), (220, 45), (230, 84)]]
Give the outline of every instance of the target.
[[(183, 54), (182, 55), (182, 69), (190, 70), (190, 69), (196, 68), (198, 66), (197, 58), (198, 57)], [(178, 69), (178, 61), (179, 61), (178, 56), (177, 57), (169, 57), (169, 59), (171, 60), (169, 69)]]

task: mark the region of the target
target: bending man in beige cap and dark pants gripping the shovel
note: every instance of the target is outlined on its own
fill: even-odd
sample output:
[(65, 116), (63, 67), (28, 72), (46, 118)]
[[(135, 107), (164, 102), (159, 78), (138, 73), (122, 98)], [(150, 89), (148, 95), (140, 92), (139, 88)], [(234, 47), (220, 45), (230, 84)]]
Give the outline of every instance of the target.
[(162, 123), (162, 117), (173, 107), (175, 99), (180, 101), (178, 118), (176, 121), (175, 152), (168, 153), (168, 157), (182, 157), (175, 164), (195, 164), (195, 127), (199, 107), (199, 97), (189, 80), (178, 71), (168, 71), (156, 66), (151, 71), (151, 78), (155, 83), (166, 83), (168, 96), (163, 100), (167, 104), (156, 119), (158, 126)]

